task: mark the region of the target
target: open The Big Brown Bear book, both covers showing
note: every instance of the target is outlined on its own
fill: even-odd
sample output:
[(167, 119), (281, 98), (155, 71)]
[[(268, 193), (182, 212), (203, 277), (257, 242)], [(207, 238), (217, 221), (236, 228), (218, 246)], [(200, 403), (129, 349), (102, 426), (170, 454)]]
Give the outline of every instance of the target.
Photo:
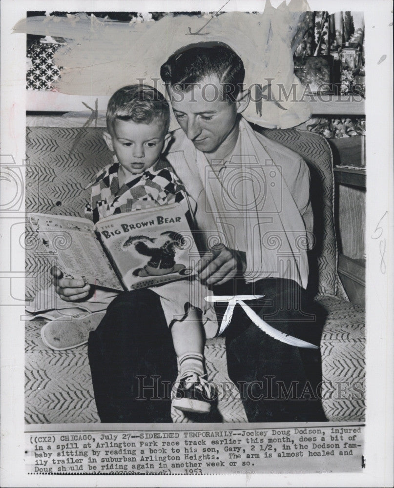
[(194, 274), (199, 258), (179, 203), (111, 215), (97, 224), (38, 213), (29, 220), (45, 255), (64, 276), (92, 285), (115, 290), (160, 285)]

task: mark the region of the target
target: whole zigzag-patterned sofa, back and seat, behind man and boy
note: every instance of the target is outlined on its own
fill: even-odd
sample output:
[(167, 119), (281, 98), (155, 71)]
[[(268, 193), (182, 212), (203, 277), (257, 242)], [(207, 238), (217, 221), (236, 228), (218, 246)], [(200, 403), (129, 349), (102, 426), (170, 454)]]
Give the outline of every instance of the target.
[[(102, 128), (31, 127), (26, 130), (26, 211), (83, 215), (88, 199), (84, 187), (110, 161)], [(328, 310), (321, 342), (323, 408), (330, 420), (362, 421), (360, 394), (332, 392), (332, 385), (364, 378), (364, 315), (350, 304), (337, 276), (337, 248), (333, 225), (332, 154), (327, 141), (296, 129), (264, 130), (264, 135), (298, 152), (311, 171), (312, 207), (318, 245), (312, 250), (311, 291)], [(28, 236), (28, 234), (27, 234)], [(49, 284), (49, 266), (26, 240), (26, 298)], [(86, 346), (52, 351), (41, 342), (41, 321), (26, 323), (26, 422), (98, 422)], [(217, 384), (227, 377), (224, 341), (207, 345), (208, 372)], [(341, 384), (342, 384), (341, 383)], [(346, 384), (345, 384), (346, 386)], [(360, 387), (362, 390), (362, 387)], [(343, 391), (343, 388), (342, 390)], [(346, 397), (346, 398), (345, 398)], [(240, 400), (220, 398), (225, 422), (246, 420)], [(188, 421), (172, 411), (176, 422)]]

